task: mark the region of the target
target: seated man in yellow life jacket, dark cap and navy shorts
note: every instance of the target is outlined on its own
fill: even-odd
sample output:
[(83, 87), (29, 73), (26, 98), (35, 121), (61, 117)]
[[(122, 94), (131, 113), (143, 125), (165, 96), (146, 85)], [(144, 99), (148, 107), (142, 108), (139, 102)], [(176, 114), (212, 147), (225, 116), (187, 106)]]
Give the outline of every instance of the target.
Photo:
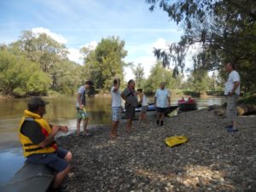
[(43, 164), (55, 170), (55, 180), (50, 191), (64, 191), (60, 186), (70, 170), (72, 154), (66, 149), (58, 148), (55, 135), (59, 131), (67, 132), (68, 128), (66, 125), (50, 125), (44, 119), (46, 104), (48, 102), (40, 97), (29, 100), (20, 120), (20, 143), (28, 162)]

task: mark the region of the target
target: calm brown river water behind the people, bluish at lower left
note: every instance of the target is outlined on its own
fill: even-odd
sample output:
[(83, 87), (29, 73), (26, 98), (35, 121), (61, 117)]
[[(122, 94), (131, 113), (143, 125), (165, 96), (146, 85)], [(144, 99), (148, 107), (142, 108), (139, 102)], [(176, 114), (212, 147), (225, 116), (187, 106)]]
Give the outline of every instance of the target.
[[(61, 96), (44, 98), (49, 102), (46, 107), (45, 119), (52, 124), (68, 125), (69, 132), (76, 129), (76, 98)], [(172, 97), (172, 105), (177, 105), (179, 98)], [(149, 102), (154, 98), (149, 97)], [(19, 121), (27, 99), (0, 99), (0, 184), (6, 183), (23, 165), (24, 158), (18, 140)], [(224, 97), (196, 98), (199, 108), (224, 103)], [(87, 109), (90, 112), (90, 125), (109, 125), (111, 123), (110, 96), (87, 98)]]

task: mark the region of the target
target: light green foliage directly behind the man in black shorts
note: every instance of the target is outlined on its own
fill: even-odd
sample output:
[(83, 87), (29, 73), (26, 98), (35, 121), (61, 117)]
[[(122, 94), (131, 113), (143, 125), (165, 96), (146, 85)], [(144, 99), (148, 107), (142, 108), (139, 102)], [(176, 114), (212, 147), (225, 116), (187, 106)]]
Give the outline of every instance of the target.
[(151, 68), (150, 74), (144, 85), (145, 92), (152, 92), (160, 87), (161, 82), (166, 83), (166, 88), (174, 90), (180, 82), (178, 79), (172, 78), (172, 70), (163, 68), (161, 63), (158, 62)]

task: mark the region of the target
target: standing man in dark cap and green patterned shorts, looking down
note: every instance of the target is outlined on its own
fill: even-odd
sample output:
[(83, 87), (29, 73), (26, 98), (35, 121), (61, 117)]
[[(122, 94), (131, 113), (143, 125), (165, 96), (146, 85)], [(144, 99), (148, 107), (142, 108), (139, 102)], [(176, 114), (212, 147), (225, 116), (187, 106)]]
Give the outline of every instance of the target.
[(80, 124), (81, 120), (84, 120), (84, 136), (91, 136), (90, 133), (87, 131), (87, 125), (89, 121), (89, 114), (85, 109), (85, 99), (86, 99), (86, 92), (92, 87), (92, 81), (86, 81), (84, 85), (79, 87), (78, 95), (77, 95), (77, 135), (80, 135)]

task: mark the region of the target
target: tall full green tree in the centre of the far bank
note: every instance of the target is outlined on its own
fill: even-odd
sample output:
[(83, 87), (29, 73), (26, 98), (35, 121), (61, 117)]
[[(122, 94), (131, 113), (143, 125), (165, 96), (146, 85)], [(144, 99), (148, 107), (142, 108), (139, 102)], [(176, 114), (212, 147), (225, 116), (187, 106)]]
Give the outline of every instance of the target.
[(95, 50), (83, 50), (86, 78), (94, 82), (96, 89), (109, 90), (114, 77), (124, 79), (125, 41), (115, 37), (102, 38)]

